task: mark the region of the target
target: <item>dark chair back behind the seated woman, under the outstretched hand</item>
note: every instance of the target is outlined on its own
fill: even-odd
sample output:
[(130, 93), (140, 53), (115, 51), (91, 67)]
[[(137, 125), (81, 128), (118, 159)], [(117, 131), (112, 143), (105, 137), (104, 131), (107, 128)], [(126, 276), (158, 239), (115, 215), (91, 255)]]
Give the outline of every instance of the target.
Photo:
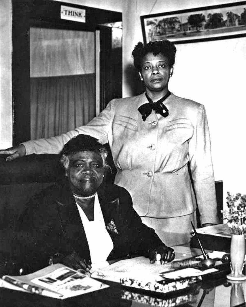
[(12, 227), (28, 200), (64, 173), (58, 155), (5, 158), (0, 156), (0, 229)]

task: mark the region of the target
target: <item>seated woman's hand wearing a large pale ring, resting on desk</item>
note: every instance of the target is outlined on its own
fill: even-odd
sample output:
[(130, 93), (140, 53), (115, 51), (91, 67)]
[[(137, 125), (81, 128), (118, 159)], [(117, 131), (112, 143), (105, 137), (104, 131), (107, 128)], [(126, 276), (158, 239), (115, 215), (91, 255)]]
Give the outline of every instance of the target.
[(172, 261), (174, 257), (175, 257), (174, 249), (166, 245), (160, 245), (157, 248), (154, 248), (149, 251), (150, 263), (155, 263), (156, 261), (160, 261), (161, 264), (164, 264)]

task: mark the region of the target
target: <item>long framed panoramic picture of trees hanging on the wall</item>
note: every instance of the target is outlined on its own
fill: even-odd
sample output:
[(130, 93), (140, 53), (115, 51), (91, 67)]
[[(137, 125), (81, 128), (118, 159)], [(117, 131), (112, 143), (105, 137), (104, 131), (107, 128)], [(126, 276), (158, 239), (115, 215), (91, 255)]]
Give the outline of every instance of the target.
[(175, 44), (246, 37), (246, 1), (140, 16), (143, 41)]

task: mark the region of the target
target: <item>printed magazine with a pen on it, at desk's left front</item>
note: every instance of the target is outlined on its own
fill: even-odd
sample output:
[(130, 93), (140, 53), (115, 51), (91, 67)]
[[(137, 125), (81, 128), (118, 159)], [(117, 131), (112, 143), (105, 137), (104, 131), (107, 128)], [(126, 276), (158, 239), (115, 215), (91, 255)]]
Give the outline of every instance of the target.
[(100, 281), (94, 280), (60, 263), (47, 266), (28, 275), (4, 275), (0, 279), (0, 286), (59, 299), (108, 287)]

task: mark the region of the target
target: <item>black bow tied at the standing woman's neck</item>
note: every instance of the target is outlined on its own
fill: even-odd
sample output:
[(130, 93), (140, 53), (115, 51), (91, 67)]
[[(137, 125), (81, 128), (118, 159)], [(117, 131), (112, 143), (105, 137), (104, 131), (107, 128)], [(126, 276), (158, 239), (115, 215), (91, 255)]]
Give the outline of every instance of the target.
[(154, 110), (156, 113), (161, 114), (163, 117), (167, 117), (169, 115), (168, 108), (165, 106), (163, 101), (168, 98), (169, 95), (171, 95), (171, 92), (167, 92), (167, 94), (162, 97), (157, 102), (153, 102), (153, 100), (145, 93), (146, 98), (148, 99), (148, 103), (142, 104), (138, 108), (138, 111), (140, 114), (142, 114), (142, 119), (145, 122), (146, 118), (150, 115), (152, 110)]

